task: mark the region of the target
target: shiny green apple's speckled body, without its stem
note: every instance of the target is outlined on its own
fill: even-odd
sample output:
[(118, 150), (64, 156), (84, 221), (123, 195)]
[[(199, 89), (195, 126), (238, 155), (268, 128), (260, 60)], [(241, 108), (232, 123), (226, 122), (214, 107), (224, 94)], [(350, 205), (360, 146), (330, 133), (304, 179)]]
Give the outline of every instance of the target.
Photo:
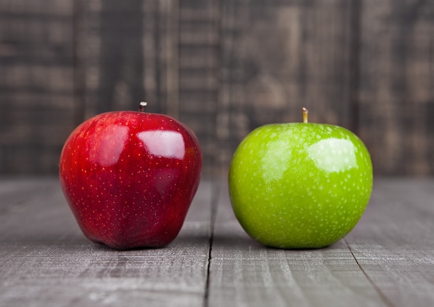
[(372, 192), (372, 161), (354, 133), (320, 123), (264, 125), (229, 168), (229, 195), (243, 229), (281, 249), (327, 247), (346, 236)]

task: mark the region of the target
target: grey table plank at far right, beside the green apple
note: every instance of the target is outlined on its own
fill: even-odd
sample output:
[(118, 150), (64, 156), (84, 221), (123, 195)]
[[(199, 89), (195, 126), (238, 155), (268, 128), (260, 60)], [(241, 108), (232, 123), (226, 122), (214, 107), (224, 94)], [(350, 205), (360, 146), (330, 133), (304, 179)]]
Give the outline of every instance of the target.
[(346, 240), (390, 306), (434, 304), (434, 180), (376, 179)]

